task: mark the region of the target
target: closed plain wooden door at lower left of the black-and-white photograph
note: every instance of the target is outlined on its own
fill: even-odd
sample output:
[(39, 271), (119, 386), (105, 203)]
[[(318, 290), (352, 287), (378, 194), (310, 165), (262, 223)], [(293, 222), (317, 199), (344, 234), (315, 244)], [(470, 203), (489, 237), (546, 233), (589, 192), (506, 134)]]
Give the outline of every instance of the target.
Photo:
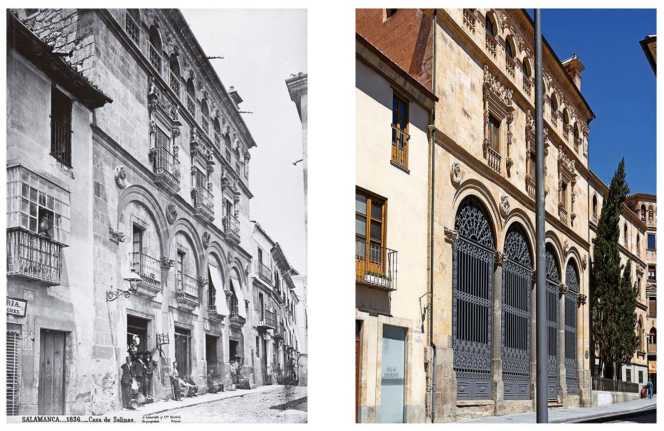
[(64, 332), (41, 330), (39, 414), (64, 414), (64, 340)]

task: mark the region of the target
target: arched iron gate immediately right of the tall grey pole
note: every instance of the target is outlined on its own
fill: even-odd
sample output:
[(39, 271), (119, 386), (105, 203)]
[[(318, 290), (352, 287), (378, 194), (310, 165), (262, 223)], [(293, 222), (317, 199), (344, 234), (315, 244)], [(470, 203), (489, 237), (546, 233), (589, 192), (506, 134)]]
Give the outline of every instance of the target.
[(558, 399), (558, 290), (560, 272), (558, 262), (550, 248), (546, 247), (546, 369), (548, 376), (548, 399)]

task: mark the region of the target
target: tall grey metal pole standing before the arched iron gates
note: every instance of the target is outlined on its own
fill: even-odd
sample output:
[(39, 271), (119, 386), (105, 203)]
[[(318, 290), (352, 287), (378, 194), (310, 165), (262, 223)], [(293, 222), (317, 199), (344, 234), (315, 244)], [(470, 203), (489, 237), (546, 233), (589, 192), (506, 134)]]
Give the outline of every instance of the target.
[(536, 360), (537, 360), (537, 423), (548, 422), (548, 370), (546, 367), (546, 262), (544, 258), (544, 99), (542, 98), (542, 17), (535, 9), (535, 265), (536, 296)]

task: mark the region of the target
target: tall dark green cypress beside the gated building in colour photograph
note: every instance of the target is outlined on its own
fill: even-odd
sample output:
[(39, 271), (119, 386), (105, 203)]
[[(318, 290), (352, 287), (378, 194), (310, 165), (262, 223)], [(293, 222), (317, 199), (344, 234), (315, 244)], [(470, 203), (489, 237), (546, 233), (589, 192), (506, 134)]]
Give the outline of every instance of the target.
[(628, 193), (623, 158), (604, 196), (593, 251), (594, 294), (590, 316), (594, 343), (606, 364), (606, 377), (612, 377), (612, 364), (628, 362), (637, 347), (636, 292), (631, 285), (631, 261), (621, 267), (618, 248), (622, 203)]

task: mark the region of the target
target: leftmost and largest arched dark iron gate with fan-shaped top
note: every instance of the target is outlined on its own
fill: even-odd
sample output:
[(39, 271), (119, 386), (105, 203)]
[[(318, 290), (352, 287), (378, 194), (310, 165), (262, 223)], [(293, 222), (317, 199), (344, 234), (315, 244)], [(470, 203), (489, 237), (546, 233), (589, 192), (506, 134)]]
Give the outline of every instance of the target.
[(480, 204), (457, 210), (452, 269), (452, 345), (457, 399), (491, 399), (493, 233)]

